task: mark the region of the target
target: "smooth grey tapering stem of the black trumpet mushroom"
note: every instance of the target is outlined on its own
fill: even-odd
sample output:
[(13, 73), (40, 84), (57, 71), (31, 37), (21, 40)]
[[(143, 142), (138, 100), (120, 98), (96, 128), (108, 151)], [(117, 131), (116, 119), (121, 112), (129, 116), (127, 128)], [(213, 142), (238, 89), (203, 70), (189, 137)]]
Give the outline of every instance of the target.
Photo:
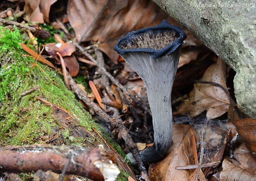
[(152, 58), (147, 53), (126, 53), (122, 56), (145, 83), (152, 111), (154, 146), (140, 152), (145, 163), (164, 158), (172, 142), (171, 90), (179, 57), (180, 47), (175, 52), (158, 59)]

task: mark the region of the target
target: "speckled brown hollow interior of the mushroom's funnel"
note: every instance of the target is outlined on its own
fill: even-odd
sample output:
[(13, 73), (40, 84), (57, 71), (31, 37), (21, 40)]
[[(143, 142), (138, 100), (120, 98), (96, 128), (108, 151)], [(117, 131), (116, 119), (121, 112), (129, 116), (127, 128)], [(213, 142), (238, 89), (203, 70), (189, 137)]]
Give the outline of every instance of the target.
[(174, 30), (170, 31), (149, 31), (145, 33), (141, 33), (139, 35), (132, 35), (129, 38), (129, 41), (123, 40), (119, 44), (119, 48), (121, 49), (142, 49), (142, 48), (152, 48), (152, 49), (163, 49), (164, 47), (171, 44), (175, 39), (177, 39), (177, 35)]

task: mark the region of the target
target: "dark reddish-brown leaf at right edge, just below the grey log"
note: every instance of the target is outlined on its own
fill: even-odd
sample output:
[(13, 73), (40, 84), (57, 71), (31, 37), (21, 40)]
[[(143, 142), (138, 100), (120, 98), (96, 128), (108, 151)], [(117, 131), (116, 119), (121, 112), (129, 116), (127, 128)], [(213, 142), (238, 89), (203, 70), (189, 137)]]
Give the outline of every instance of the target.
[(232, 119), (232, 123), (237, 128), (245, 146), (256, 156), (256, 120), (251, 118)]

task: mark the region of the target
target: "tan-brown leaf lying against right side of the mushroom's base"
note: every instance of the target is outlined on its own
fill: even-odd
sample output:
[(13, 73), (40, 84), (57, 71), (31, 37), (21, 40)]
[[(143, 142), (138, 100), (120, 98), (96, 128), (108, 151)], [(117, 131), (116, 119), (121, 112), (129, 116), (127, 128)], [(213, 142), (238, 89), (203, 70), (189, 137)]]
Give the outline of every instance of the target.
[(154, 181), (185, 181), (189, 178), (190, 170), (178, 170), (176, 166), (194, 164), (192, 135), (196, 135), (190, 125), (173, 125), (173, 143), (167, 152), (166, 158), (152, 163), (149, 175)]

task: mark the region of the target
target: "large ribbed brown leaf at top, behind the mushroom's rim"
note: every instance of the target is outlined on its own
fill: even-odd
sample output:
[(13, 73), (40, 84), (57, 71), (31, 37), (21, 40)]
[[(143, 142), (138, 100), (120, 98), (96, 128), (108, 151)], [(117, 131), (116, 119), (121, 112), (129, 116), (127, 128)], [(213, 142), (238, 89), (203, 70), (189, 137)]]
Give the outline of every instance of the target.
[(70, 0), (67, 13), (78, 41), (100, 41), (99, 49), (115, 62), (113, 47), (122, 35), (168, 17), (149, 0)]

